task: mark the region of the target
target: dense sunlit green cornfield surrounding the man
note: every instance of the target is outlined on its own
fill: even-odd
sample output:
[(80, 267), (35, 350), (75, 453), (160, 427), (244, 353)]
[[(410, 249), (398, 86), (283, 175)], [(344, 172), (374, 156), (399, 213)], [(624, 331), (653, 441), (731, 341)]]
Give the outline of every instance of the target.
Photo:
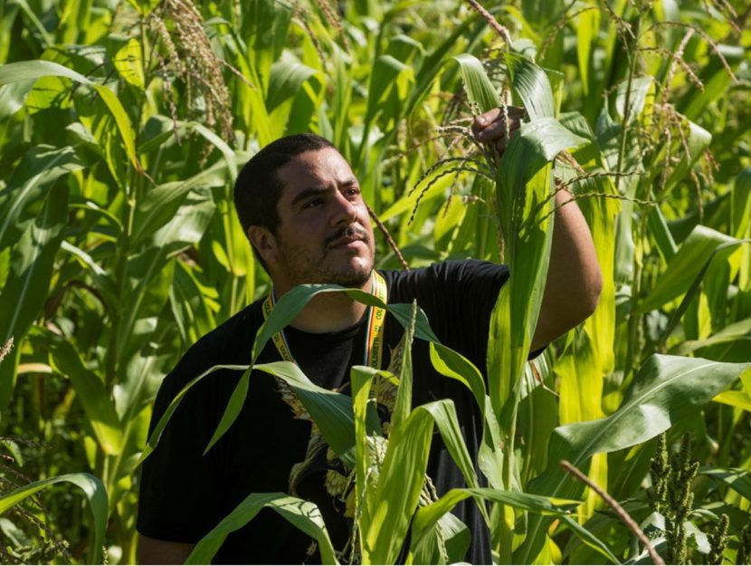
[[(566, 458), (669, 561), (746, 563), (749, 17), (740, 0), (0, 1), (0, 561), (136, 561), (159, 382), (269, 283), (233, 214), (237, 169), (314, 131), (352, 164), (407, 264), (511, 265), (488, 390), (433, 350), (488, 419), (490, 488), (461, 496), (488, 500), (494, 559), (651, 560)], [(529, 124), (497, 162), (471, 117), (512, 103)], [(604, 290), (526, 365), (561, 187), (591, 226)], [(400, 265), (385, 237), (376, 264)], [(297, 298), (290, 309), (309, 294)], [(529, 305), (511, 315), (520, 325), (504, 301)], [(363, 481), (373, 376), (358, 371), (352, 441), (372, 511), (383, 493), (411, 500)], [(408, 403), (402, 418), (428, 427)], [(395, 560), (416, 504), (387, 525), (366, 509), (364, 562)], [(439, 521), (449, 510), (420, 509), (411, 560), (461, 560), (447, 544), (461, 529)]]

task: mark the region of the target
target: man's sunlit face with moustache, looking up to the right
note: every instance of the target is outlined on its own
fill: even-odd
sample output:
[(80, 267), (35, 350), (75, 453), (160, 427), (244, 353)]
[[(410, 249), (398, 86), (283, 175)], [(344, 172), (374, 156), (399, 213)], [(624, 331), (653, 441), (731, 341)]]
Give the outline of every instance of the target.
[(373, 270), (373, 228), (357, 179), (336, 149), (302, 153), (277, 172), (280, 226), (271, 237), (280, 288), (362, 287)]

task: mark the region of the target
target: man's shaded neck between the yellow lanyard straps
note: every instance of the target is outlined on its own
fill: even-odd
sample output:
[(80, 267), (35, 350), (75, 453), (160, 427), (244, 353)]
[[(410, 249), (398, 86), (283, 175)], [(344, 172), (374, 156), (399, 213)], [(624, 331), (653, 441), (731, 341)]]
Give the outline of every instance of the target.
[[(373, 278), (361, 287), (372, 293)], [(289, 291), (289, 290), (287, 290)], [(279, 299), (280, 295), (277, 295)], [(336, 332), (353, 326), (363, 318), (366, 305), (350, 299), (345, 293), (318, 293), (310, 299), (290, 324), (299, 331), (311, 333)]]

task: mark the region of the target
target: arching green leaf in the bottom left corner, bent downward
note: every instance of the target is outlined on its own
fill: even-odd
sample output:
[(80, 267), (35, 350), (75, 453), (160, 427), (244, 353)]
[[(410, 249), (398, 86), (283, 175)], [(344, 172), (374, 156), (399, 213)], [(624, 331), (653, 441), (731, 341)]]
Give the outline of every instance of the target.
[(0, 513), (5, 513), (8, 509), (30, 495), (36, 494), (51, 485), (62, 483), (80, 487), (89, 501), (91, 514), (94, 519), (94, 540), (89, 549), (88, 561), (90, 564), (99, 564), (101, 562), (101, 550), (104, 546), (104, 534), (107, 530), (107, 515), (109, 513), (107, 492), (99, 478), (90, 474), (65, 474), (26, 484), (10, 493), (0, 495)]

